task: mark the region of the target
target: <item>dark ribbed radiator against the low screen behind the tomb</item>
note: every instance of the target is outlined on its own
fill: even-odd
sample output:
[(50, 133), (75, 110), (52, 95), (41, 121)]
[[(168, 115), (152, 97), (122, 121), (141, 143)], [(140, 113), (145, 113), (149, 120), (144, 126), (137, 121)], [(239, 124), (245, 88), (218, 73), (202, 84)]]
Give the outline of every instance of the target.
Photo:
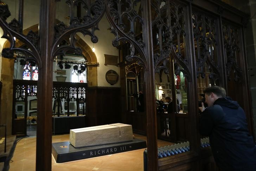
[(70, 129), (84, 128), (85, 116), (52, 117), (53, 134), (69, 133)]

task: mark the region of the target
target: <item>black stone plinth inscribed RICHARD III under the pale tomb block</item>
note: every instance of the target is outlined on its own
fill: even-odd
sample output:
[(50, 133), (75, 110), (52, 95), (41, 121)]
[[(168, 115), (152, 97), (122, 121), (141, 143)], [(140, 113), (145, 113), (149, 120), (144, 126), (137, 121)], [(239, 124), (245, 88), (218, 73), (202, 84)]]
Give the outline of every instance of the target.
[(146, 148), (146, 141), (134, 138), (133, 141), (75, 148), (69, 141), (52, 143), (52, 154), (57, 163), (85, 158), (110, 155), (125, 151)]

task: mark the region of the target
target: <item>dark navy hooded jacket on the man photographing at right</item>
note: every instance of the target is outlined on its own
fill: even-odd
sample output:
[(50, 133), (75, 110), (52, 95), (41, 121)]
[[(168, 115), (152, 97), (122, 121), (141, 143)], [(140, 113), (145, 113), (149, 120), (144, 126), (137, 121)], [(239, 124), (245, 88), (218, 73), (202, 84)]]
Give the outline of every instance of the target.
[(218, 98), (200, 116), (199, 130), (209, 136), (215, 162), (225, 171), (256, 171), (256, 147), (244, 110), (230, 97)]

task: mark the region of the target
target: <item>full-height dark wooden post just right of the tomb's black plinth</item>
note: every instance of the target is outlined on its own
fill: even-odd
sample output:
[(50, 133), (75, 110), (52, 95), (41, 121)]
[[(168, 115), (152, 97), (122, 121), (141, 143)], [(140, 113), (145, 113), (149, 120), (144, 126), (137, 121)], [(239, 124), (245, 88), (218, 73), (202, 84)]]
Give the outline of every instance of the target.
[[(142, 1), (143, 2), (143, 1)], [(148, 58), (148, 66), (145, 71), (145, 96), (147, 114), (147, 149), (148, 149), (148, 171), (158, 170), (157, 158), (157, 132), (156, 132), (156, 106), (155, 106), (155, 84), (154, 84), (154, 60), (152, 45), (152, 23), (151, 23), (151, 2), (144, 1), (143, 16), (145, 18), (145, 55)]]

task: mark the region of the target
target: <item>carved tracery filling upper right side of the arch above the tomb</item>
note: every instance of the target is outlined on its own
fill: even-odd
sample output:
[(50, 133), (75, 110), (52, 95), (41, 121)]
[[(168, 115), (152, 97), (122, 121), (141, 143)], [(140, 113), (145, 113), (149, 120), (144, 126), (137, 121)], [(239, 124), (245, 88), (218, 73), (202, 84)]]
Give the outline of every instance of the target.
[(128, 62), (137, 61), (137, 64), (145, 67), (147, 64), (143, 49), (145, 46), (143, 41), (145, 39), (143, 32), (145, 21), (142, 17), (142, 11), (139, 0), (108, 1), (106, 14), (112, 26), (111, 33), (116, 36), (112, 42), (113, 46), (127, 44), (129, 49), (125, 60)]

